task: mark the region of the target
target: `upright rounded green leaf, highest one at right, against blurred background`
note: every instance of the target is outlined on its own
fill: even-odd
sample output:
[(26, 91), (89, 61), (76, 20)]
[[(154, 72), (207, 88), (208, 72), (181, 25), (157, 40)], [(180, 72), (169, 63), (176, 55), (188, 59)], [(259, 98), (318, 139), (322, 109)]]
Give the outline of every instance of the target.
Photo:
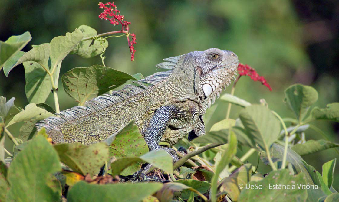
[(285, 90), (285, 103), (295, 113), (299, 122), (304, 120), (310, 106), (318, 100), (318, 92), (311, 86), (294, 84)]

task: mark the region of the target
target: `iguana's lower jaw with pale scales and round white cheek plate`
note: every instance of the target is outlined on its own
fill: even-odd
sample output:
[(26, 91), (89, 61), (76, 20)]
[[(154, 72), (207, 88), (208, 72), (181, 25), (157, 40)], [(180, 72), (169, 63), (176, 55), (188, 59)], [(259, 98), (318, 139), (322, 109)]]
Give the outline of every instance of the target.
[(205, 74), (207, 79), (202, 81), (202, 91), (204, 95), (203, 103), (206, 108), (210, 108), (216, 98), (220, 97), (222, 90), (225, 90), (226, 86), (230, 85), (231, 81), (235, 79), (238, 63), (236, 58), (228, 64), (213, 67)]

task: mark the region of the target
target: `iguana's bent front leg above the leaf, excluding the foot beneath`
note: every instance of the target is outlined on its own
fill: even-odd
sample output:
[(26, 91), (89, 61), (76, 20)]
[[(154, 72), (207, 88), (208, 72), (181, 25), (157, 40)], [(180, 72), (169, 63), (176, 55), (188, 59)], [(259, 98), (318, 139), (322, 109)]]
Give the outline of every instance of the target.
[[(149, 121), (144, 133), (144, 139), (149, 150), (165, 150), (171, 155), (174, 162), (177, 161), (178, 157), (175, 150), (160, 146), (159, 142), (168, 127), (193, 129), (197, 119), (199, 119), (199, 105), (191, 100), (159, 107)], [(177, 136), (166, 139), (169, 144), (173, 145), (179, 142), (182, 136), (178, 133)]]

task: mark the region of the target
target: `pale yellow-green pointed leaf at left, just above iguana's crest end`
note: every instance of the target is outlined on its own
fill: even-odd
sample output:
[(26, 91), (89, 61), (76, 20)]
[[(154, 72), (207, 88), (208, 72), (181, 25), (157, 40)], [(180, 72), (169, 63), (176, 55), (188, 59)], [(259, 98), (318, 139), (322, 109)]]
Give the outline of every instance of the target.
[(26, 105), (25, 110), (16, 114), (11, 121), (7, 124), (7, 126), (12, 125), (21, 121), (29, 121), (31, 119), (35, 119), (37, 121), (43, 120), (48, 117), (56, 116), (52, 113), (47, 112), (45, 109), (37, 107), (36, 104), (31, 103)]

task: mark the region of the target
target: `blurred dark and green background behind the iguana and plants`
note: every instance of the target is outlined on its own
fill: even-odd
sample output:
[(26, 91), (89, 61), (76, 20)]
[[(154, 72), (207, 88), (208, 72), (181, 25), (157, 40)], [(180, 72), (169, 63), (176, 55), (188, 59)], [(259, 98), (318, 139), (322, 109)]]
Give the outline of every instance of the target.
[[(98, 1), (0, 1), (0, 40), (29, 31), (33, 44), (51, 41), (56, 36), (72, 32), (82, 24), (99, 33), (118, 30), (108, 21), (102, 21)], [(130, 32), (136, 34), (135, 61), (130, 61), (126, 39), (110, 38), (106, 50), (106, 66), (129, 74), (144, 76), (156, 72), (155, 65), (162, 58), (177, 56), (193, 50), (211, 47), (232, 50), (240, 62), (254, 67), (273, 88), (270, 92), (249, 77), (240, 79), (235, 95), (252, 103), (264, 98), (270, 108), (282, 117), (294, 117), (283, 103), (283, 90), (291, 84), (302, 83), (319, 92), (319, 107), (338, 101), (339, 92), (339, 2), (301, 0), (196, 0), (196, 1), (115, 1), (118, 10), (130, 21)], [(69, 55), (62, 62), (61, 74), (74, 67), (101, 64), (99, 56), (83, 59)], [(14, 68), (6, 78), (0, 72), (0, 95), (16, 97), (17, 107), (28, 101), (24, 92), (25, 78), (22, 65)], [(230, 92), (230, 88), (226, 90)], [(68, 97), (59, 82), (60, 109), (77, 103)], [(52, 96), (46, 101), (54, 107)], [(208, 126), (224, 119), (227, 103), (216, 101), (216, 113)], [(240, 108), (233, 106), (231, 118), (236, 118)], [(335, 142), (339, 142), (339, 124), (328, 121), (314, 123)], [(20, 124), (9, 129), (18, 135)], [(306, 139), (321, 139), (314, 130), (306, 130)], [(9, 142), (6, 142), (9, 145)], [(243, 152), (245, 152), (244, 149)], [(241, 155), (239, 151), (239, 155)], [(328, 149), (303, 156), (307, 163), (321, 172), (321, 165), (338, 155)], [(248, 160), (257, 164), (258, 157)], [(339, 188), (339, 163), (336, 167), (334, 188)], [(259, 165), (266, 173), (269, 166)]]

